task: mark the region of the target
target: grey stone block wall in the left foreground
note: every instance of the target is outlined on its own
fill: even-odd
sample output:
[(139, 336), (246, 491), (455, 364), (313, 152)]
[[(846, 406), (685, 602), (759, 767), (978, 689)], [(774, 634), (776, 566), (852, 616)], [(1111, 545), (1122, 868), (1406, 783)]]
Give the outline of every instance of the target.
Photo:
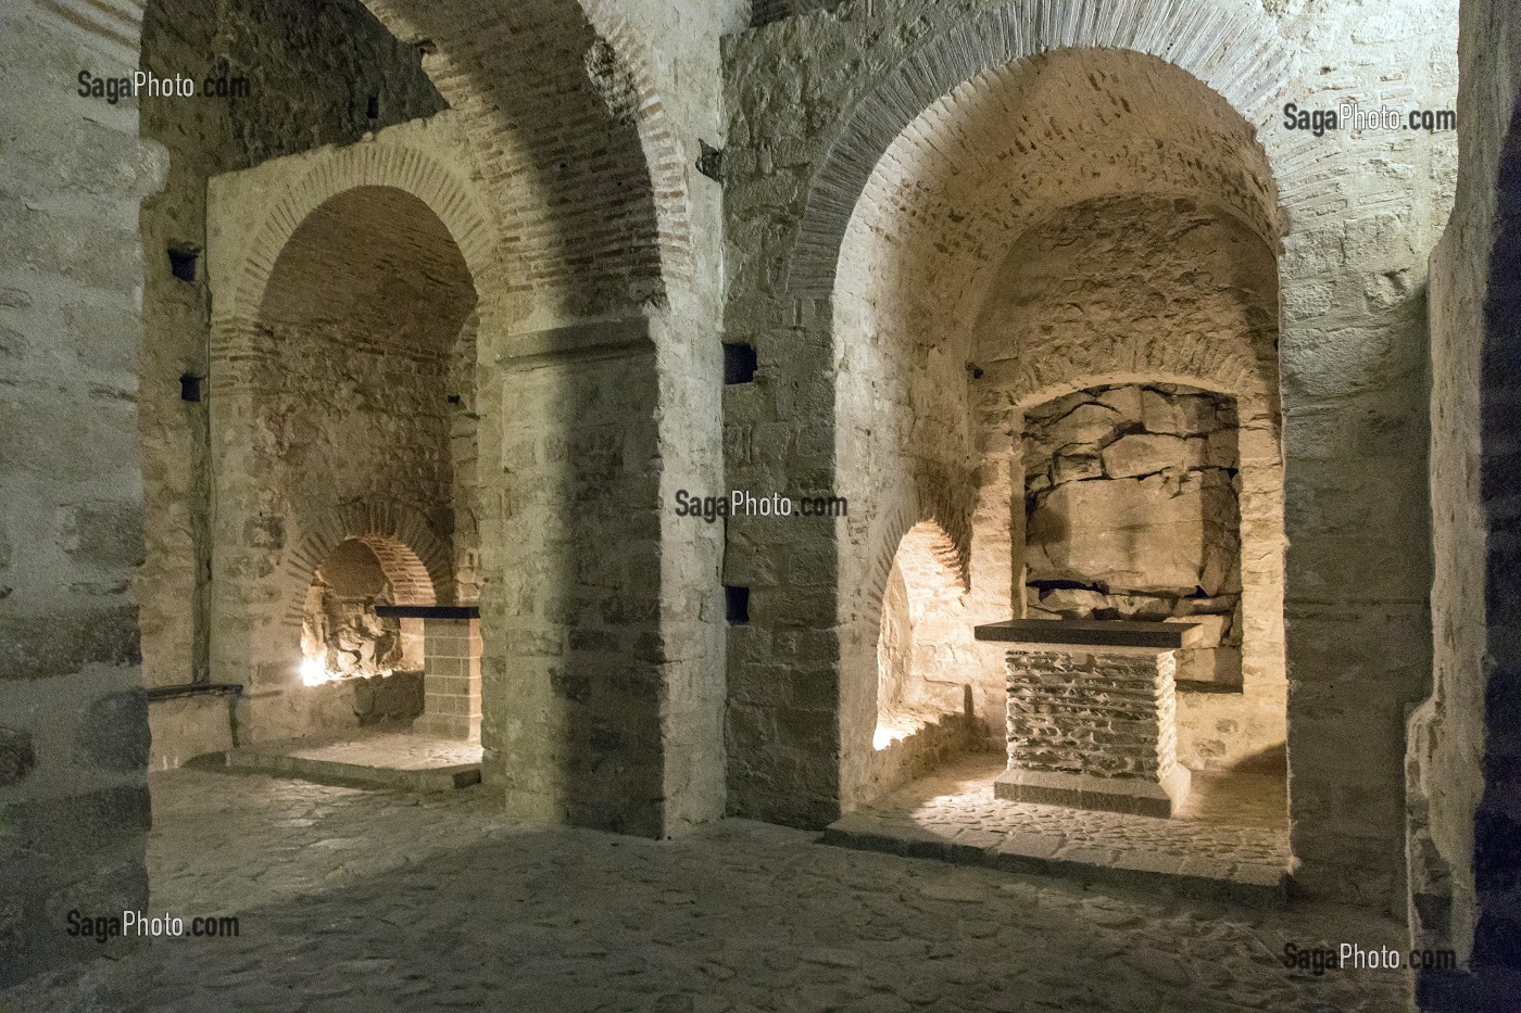
[(76, 94), (132, 70), (134, 18), (0, 9), (0, 987), (96, 955), (68, 910), (148, 903), (137, 207), (164, 158), (135, 105)]

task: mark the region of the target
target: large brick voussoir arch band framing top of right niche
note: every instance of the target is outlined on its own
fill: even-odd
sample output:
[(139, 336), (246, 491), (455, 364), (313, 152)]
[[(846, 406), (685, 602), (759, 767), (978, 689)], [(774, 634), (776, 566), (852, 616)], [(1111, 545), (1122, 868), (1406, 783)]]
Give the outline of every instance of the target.
[[(931, 105), (981, 75), (1060, 49), (1147, 53), (1191, 73), (1220, 94), (1269, 152), (1275, 176), (1290, 141), (1264, 137), (1297, 58), (1265, 14), (1214, 0), (1037, 0), (973, 14), (928, 35), (893, 73), (867, 90), (826, 137), (805, 198), (786, 286), (797, 298), (827, 298), (846, 228), (893, 141)], [(1314, 195), (1285, 195), (1313, 199)], [(1285, 208), (1287, 210), (1287, 208)]]

